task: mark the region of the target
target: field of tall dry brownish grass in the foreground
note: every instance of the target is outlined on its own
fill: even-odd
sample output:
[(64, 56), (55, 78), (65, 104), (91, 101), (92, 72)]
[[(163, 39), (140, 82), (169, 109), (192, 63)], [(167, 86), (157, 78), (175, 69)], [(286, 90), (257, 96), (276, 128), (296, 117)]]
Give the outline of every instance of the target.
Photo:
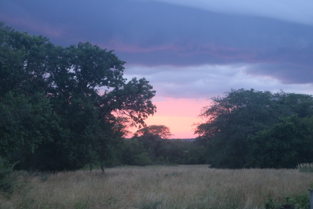
[(208, 165), (118, 167), (28, 174), (0, 195), (0, 208), (265, 208), (269, 198), (307, 194), (312, 173), (296, 169), (211, 169)]

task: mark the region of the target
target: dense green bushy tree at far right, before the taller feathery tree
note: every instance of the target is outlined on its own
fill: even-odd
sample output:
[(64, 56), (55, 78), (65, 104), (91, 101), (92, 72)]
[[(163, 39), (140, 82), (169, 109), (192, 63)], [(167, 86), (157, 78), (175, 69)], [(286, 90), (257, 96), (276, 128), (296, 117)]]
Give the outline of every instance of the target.
[(246, 166), (295, 168), (299, 163), (313, 162), (312, 121), (313, 117), (300, 119), (292, 115), (281, 118), (270, 129), (249, 136)]

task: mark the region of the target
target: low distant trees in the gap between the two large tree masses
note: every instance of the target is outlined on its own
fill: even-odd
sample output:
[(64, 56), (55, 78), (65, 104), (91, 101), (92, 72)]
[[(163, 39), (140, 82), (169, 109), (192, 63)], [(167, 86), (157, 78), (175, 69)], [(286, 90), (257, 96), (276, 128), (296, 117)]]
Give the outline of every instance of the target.
[(184, 139), (169, 139), (172, 134), (164, 125), (152, 125), (124, 139), (119, 162), (127, 165), (204, 164), (204, 147)]

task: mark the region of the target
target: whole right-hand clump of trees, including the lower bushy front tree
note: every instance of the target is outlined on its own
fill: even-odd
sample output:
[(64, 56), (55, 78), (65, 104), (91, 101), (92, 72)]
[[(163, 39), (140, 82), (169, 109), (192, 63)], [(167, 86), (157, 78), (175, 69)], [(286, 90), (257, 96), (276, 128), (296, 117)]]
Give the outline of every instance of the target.
[(232, 89), (202, 109), (197, 144), (217, 168), (295, 168), (313, 162), (313, 96)]

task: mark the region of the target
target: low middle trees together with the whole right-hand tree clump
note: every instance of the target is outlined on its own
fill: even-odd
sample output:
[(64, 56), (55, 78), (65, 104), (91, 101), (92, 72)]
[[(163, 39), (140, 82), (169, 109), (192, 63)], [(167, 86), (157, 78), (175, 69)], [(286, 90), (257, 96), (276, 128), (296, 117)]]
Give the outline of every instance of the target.
[(168, 140), (166, 126), (148, 126), (124, 141), (122, 162), (228, 169), (295, 168), (313, 162), (312, 95), (242, 88), (211, 100), (201, 110), (204, 122), (197, 124), (195, 141)]

